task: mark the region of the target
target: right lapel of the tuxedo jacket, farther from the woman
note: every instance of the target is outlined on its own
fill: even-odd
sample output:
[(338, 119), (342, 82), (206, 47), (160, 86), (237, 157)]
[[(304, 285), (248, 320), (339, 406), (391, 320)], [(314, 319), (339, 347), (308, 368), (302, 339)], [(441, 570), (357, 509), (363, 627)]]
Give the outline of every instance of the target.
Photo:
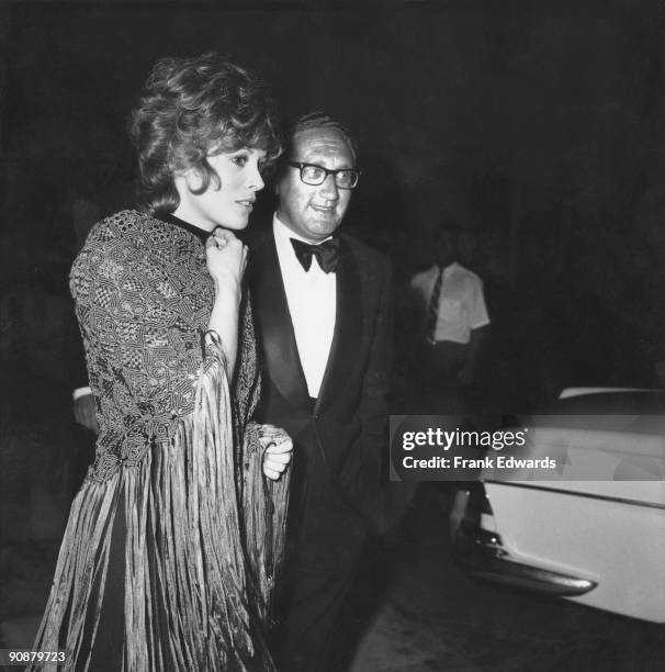
[[(340, 260), (337, 267), (337, 306), (335, 332), (326, 371), (314, 412), (325, 408), (339, 394), (353, 366), (354, 354), (362, 335), (362, 294), (360, 273), (349, 244), (340, 238)], [(356, 346), (356, 347), (354, 347)]]

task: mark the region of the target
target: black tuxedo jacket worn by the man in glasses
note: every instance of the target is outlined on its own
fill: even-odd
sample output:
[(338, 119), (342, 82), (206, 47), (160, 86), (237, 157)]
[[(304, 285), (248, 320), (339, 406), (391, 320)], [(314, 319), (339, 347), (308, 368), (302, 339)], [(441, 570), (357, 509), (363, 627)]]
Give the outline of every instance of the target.
[[(340, 235), (337, 313), (319, 396), (313, 404), (297, 346), (272, 226), (255, 227), (248, 281), (253, 306), (262, 393), (256, 417), (283, 427), (298, 455), (318, 451), (318, 469), (374, 531), (386, 527), (382, 506), (387, 474), (392, 287), (388, 258)], [(311, 471), (298, 478), (316, 480)], [(295, 482), (294, 482), (295, 480)]]

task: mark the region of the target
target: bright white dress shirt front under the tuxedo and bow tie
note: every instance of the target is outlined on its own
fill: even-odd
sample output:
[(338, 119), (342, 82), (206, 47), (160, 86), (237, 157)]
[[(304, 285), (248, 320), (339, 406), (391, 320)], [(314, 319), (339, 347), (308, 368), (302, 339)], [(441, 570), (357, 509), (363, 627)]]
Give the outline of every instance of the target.
[(272, 221), (272, 231), (307, 390), (309, 396), (317, 397), (335, 332), (336, 275), (324, 273), (316, 257), (312, 258), (308, 271), (302, 267), (293, 250), (291, 238), (304, 243), (307, 240), (282, 224), (277, 214)]

